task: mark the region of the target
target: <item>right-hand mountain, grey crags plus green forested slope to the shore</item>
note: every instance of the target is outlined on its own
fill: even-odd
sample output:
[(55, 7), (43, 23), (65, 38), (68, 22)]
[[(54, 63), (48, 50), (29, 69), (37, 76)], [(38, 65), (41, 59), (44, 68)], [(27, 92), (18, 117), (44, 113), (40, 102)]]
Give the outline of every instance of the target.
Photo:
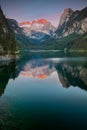
[(68, 19), (66, 14), (61, 16), (65, 20), (58, 26), (54, 38), (44, 43), (44, 48), (47, 45), (48, 49), (87, 51), (87, 7), (73, 11)]

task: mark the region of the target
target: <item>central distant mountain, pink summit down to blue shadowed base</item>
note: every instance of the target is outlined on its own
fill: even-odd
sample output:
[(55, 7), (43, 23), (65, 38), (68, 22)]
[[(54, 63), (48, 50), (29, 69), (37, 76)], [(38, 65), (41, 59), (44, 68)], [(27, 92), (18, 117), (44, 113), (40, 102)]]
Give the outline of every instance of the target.
[(28, 27), (26, 25), (23, 32), (29, 37), (31, 42), (43, 42), (53, 37), (55, 30), (55, 27), (46, 19), (39, 19), (32, 21)]

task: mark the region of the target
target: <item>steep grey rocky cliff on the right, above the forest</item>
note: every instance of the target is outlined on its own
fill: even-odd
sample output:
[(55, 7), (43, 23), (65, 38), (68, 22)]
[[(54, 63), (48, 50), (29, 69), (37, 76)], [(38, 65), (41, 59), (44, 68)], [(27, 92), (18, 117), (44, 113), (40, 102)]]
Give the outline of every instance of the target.
[(84, 34), (87, 32), (87, 7), (80, 11), (65, 9), (57, 29), (58, 38), (70, 34)]

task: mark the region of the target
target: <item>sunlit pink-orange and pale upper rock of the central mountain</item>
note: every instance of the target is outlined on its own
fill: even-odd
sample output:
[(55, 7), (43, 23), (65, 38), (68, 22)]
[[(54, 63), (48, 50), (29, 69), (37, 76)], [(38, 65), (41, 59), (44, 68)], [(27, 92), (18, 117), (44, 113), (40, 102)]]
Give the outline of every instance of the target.
[(20, 27), (25, 26), (24, 33), (27, 36), (31, 36), (32, 32), (43, 32), (51, 35), (55, 31), (55, 27), (46, 19), (38, 19), (30, 22), (19, 23)]

